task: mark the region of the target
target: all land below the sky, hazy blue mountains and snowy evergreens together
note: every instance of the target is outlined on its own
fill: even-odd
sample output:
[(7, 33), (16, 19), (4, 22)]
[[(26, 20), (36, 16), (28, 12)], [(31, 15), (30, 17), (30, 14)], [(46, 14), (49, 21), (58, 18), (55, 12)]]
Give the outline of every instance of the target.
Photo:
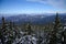
[[(0, 19), (0, 44), (66, 44), (65, 15)], [(18, 21), (18, 22), (16, 22)]]

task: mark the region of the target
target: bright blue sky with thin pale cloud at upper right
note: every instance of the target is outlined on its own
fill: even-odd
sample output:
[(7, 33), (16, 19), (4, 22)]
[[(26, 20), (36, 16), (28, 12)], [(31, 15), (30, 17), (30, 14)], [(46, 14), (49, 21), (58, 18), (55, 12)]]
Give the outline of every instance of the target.
[(66, 0), (0, 0), (0, 13), (66, 13)]

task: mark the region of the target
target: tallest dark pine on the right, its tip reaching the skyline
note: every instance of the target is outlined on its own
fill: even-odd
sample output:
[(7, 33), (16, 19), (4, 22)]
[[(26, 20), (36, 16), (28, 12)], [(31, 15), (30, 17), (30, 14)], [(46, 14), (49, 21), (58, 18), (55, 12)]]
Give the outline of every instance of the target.
[(54, 29), (52, 31), (50, 44), (57, 44), (57, 36), (56, 36), (56, 34), (58, 33), (61, 28), (62, 28), (62, 23), (61, 23), (58, 13), (56, 13)]

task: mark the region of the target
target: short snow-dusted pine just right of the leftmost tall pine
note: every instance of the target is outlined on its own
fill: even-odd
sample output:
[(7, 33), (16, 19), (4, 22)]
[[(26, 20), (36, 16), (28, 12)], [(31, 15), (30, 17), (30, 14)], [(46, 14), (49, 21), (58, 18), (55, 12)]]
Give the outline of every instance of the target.
[[(13, 22), (9, 22), (9, 41), (8, 41), (8, 43), (7, 44), (12, 44), (12, 42), (13, 42), (13, 40), (15, 38), (15, 30), (14, 30), (14, 28), (13, 28), (14, 25), (13, 25)], [(14, 33), (13, 33), (14, 32)]]

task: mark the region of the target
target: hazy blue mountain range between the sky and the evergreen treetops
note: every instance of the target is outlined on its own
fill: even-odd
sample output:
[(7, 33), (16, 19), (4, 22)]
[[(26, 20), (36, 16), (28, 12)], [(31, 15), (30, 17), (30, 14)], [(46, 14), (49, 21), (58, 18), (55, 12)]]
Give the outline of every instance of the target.
[[(62, 23), (66, 23), (66, 13), (59, 14)], [(13, 21), (15, 24), (23, 24), (31, 22), (32, 24), (46, 24), (52, 23), (55, 20), (55, 14), (19, 14), (6, 18), (7, 22)], [(1, 16), (0, 16), (1, 21)]]

